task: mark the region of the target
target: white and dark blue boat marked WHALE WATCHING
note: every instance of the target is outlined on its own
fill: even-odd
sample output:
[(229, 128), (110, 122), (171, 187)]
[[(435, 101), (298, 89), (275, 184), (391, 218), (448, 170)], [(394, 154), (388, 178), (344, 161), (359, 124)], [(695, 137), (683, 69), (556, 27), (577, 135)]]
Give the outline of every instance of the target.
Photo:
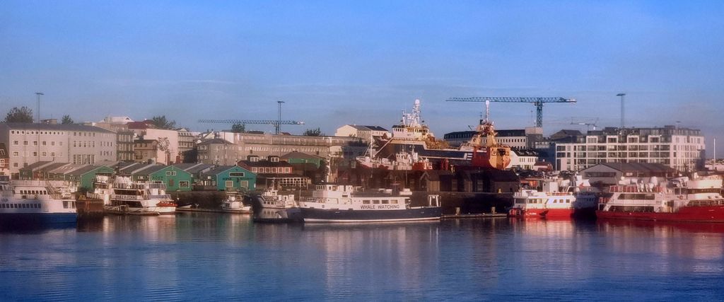
[(310, 198), (300, 198), (304, 222), (404, 222), (440, 219), (439, 196), (426, 206), (411, 206), (410, 196), (392, 190), (362, 192), (352, 185), (315, 185)]

